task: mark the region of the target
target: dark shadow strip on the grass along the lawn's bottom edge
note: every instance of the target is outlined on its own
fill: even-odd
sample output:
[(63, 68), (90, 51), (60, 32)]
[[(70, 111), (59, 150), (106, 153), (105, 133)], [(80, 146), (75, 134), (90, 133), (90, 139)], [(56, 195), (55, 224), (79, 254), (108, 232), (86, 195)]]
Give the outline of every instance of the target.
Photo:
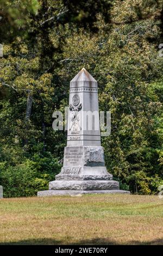
[(109, 239), (95, 238), (90, 240), (80, 240), (79, 242), (67, 242), (54, 239), (29, 239), (16, 242), (0, 242), (0, 245), (163, 245), (163, 237), (161, 239), (151, 241), (128, 241), (126, 243), (117, 243)]

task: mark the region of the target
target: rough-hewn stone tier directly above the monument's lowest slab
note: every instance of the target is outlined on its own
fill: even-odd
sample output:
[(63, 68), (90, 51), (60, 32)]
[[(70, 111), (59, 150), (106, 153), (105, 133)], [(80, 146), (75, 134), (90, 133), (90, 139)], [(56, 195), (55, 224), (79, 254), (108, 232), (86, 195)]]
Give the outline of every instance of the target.
[(115, 180), (54, 180), (49, 182), (49, 190), (118, 190)]

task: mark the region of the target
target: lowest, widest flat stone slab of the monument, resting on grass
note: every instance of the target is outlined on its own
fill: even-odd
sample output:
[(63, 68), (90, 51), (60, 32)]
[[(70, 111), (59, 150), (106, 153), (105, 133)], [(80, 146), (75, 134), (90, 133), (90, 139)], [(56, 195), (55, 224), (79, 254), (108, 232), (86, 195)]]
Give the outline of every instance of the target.
[(44, 190), (37, 192), (38, 197), (83, 196), (83, 194), (130, 194), (126, 190)]

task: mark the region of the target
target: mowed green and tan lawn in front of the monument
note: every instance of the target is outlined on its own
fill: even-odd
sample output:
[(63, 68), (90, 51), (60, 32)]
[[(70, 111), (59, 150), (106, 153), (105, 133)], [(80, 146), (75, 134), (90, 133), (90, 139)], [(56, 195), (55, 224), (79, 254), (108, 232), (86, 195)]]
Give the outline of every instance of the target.
[(0, 245), (162, 245), (163, 199), (86, 195), (0, 199)]

